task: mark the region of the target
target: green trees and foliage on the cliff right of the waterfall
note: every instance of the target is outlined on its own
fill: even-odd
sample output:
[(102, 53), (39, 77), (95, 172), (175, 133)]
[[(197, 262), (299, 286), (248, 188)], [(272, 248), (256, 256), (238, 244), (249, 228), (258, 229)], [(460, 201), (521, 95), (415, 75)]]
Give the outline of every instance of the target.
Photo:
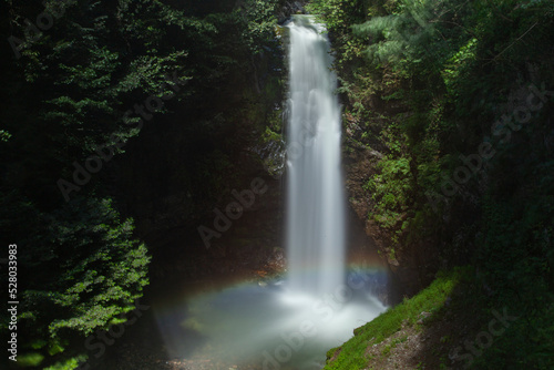
[[(490, 289), (473, 305), (525, 318), (475, 368), (552, 368), (552, 96), (513, 125), (530, 110), (530, 85), (554, 90), (552, 1), (312, 3), (332, 38), (345, 121), (363, 129), (348, 138), (381, 153), (363, 187), (368, 217), (397, 257), (440, 246), (419, 263), (473, 264)], [(493, 156), (468, 167), (483, 143)], [(365, 361), (349, 348), (340, 356)]]

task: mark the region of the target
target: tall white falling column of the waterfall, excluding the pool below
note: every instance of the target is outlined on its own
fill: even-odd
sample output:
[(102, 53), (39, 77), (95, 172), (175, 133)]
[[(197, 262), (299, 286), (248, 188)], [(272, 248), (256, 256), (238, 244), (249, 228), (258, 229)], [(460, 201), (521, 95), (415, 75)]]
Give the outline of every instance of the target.
[(320, 296), (345, 279), (340, 106), (325, 28), (307, 16), (288, 28), (288, 276), (291, 290)]

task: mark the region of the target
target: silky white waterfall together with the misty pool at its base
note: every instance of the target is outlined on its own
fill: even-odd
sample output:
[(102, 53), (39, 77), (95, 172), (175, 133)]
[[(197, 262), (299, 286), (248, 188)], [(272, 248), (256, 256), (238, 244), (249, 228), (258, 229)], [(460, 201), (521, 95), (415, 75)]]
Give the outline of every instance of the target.
[(288, 284), (245, 281), (176, 302), (156, 300), (168, 353), (197, 359), (202, 368), (321, 369), (329, 348), (386, 309), (371, 292), (383, 269), (346, 274), (340, 109), (325, 29), (305, 16), (287, 27)]

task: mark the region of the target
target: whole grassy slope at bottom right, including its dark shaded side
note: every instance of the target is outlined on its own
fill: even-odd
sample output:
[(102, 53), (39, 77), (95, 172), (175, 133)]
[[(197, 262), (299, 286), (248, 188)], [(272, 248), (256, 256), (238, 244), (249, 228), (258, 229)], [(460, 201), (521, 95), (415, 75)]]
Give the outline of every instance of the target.
[(522, 315), (521, 304), (488, 291), (472, 267), (441, 273), (329, 350), (325, 370), (554, 369), (554, 305)]

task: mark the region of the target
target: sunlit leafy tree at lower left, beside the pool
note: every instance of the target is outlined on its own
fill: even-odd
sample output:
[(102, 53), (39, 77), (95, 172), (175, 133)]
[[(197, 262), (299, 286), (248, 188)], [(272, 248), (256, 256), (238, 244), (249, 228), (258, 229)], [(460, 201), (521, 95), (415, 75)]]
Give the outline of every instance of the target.
[[(2, 198), (10, 199), (1, 215), (10, 230), (7, 236), (18, 235), (22, 247), (18, 332), (34, 338), (32, 343), (21, 343), (27, 359), (22, 362), (44, 358), (51, 362), (68, 347), (73, 350), (70, 343), (76, 338), (83, 341), (134, 308), (148, 282), (150, 257), (144, 244), (132, 239), (132, 220), (120, 222), (110, 201), (80, 198), (42, 214), (14, 194)], [(33, 226), (24, 238), (18, 234), (22, 218)], [(3, 329), (7, 322), (2, 319)]]

